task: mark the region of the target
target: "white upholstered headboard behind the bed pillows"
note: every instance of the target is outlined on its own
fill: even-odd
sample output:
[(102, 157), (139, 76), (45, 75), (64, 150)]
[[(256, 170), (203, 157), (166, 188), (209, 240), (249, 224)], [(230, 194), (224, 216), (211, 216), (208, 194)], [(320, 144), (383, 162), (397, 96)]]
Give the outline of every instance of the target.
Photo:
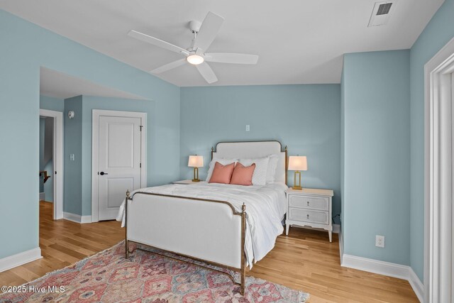
[(271, 154), (279, 155), (275, 180), (287, 184), (287, 146), (282, 150), (279, 141), (219, 142), (211, 149), (211, 159), (262, 158)]

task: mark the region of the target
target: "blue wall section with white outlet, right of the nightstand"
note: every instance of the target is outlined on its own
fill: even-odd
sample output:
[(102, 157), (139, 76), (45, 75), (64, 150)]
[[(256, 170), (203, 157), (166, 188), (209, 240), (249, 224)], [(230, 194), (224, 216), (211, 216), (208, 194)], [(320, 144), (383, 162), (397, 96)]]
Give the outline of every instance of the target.
[(409, 265), (410, 53), (347, 54), (343, 64), (344, 253)]

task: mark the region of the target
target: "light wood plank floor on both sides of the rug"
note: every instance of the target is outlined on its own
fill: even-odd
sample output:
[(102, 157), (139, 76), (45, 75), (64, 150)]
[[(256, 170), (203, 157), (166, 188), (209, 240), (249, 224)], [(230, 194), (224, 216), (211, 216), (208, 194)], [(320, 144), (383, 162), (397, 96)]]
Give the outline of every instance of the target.
[[(52, 204), (40, 202), (40, 248), (44, 258), (0, 272), (1, 285), (21, 285), (64, 268), (123, 240), (116, 221), (77, 224), (52, 220)], [(290, 228), (248, 275), (311, 294), (309, 302), (418, 302), (405, 280), (342, 268), (338, 236)]]

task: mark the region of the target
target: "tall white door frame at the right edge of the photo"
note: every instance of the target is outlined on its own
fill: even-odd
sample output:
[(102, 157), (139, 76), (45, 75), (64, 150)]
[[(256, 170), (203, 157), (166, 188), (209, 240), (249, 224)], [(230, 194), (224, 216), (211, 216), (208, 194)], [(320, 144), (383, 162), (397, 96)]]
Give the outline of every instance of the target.
[(424, 65), (424, 302), (431, 303), (451, 296), (441, 280), (452, 277), (453, 72), (454, 38)]

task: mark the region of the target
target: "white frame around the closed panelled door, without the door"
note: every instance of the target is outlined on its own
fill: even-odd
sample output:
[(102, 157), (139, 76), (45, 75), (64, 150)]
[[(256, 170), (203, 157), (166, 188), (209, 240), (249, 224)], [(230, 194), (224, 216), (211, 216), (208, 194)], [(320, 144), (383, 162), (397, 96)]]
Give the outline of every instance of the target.
[[(142, 135), (140, 136), (140, 187), (147, 186), (147, 113), (138, 111), (92, 110), (92, 222), (99, 221), (99, 116), (114, 116), (142, 119)], [(132, 190), (132, 189), (131, 189)], [(126, 197), (126, 192), (125, 192)]]

